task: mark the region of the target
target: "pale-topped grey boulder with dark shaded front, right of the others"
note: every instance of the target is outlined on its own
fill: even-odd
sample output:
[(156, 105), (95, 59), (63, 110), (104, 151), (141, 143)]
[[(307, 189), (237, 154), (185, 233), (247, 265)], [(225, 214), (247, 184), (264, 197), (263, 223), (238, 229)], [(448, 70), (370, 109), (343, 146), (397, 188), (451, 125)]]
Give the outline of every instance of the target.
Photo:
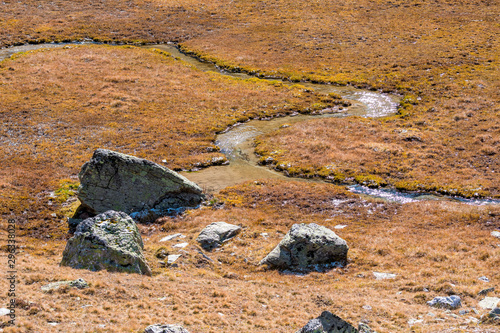
[(333, 231), (315, 223), (294, 224), (262, 261), (272, 268), (321, 270), (347, 263), (348, 246)]

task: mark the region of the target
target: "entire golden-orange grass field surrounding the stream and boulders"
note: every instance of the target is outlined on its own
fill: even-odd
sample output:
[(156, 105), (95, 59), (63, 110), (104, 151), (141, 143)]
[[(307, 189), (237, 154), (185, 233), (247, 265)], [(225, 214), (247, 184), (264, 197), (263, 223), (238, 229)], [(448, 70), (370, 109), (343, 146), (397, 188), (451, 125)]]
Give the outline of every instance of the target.
[[(394, 116), (298, 123), (260, 137), (256, 150), (294, 176), (498, 198), (499, 14), (500, 4), (487, 0), (4, 0), (0, 47), (175, 42), (231, 71), (397, 93)], [(318, 103), (328, 101), (300, 86), (204, 73), (133, 46), (0, 62), (0, 226), (4, 237), (7, 219), (16, 219), (21, 244), (17, 324), (3, 331), (142, 332), (180, 323), (195, 333), (295, 332), (329, 310), (377, 332), (498, 332), (470, 318), (487, 313), (471, 309), (478, 291), (495, 286), (490, 296), (499, 296), (500, 241), (490, 236), (500, 228), (498, 205), (395, 204), (332, 184), (249, 182), (201, 209), (140, 225), (152, 277), (59, 267), (76, 175), (94, 149), (166, 160), (176, 170), (209, 166), (224, 158), (214, 140), (228, 126)], [(195, 239), (215, 221), (244, 231), (207, 253), (210, 262)], [(344, 269), (296, 276), (257, 265), (291, 225), (310, 222), (347, 225), (335, 229), (350, 247)], [(179, 267), (161, 267), (158, 251), (177, 250), (159, 239), (177, 232), (187, 236), (186, 253)], [(374, 271), (397, 277), (376, 280)], [(78, 277), (91, 287), (40, 290)], [(0, 307), (6, 289), (0, 280)], [(426, 305), (451, 294), (462, 297), (466, 315)], [(410, 319), (424, 321), (410, 327)]]

